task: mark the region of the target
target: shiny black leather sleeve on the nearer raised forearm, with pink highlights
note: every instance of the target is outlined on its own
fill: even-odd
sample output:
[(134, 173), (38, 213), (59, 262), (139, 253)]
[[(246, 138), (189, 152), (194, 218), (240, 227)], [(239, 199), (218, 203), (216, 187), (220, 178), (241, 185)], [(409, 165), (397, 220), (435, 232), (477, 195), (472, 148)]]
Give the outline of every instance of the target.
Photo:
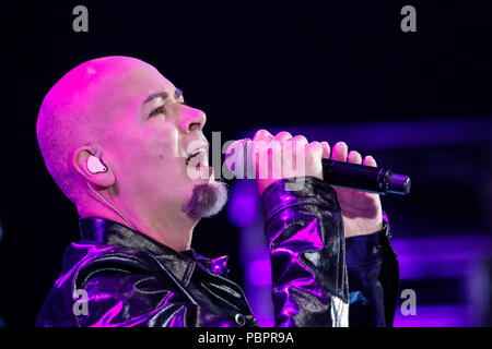
[(349, 286), (341, 209), (335, 190), (305, 177), (262, 193), (276, 326), (348, 326)]

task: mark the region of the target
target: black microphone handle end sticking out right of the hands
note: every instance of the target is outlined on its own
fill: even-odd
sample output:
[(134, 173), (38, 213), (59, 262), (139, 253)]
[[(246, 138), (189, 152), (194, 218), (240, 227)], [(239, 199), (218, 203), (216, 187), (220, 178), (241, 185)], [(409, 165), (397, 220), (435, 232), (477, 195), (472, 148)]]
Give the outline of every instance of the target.
[(387, 193), (407, 195), (410, 192), (410, 177), (394, 173), (384, 167), (321, 159), (323, 179), (331, 185), (365, 191), (374, 194)]

